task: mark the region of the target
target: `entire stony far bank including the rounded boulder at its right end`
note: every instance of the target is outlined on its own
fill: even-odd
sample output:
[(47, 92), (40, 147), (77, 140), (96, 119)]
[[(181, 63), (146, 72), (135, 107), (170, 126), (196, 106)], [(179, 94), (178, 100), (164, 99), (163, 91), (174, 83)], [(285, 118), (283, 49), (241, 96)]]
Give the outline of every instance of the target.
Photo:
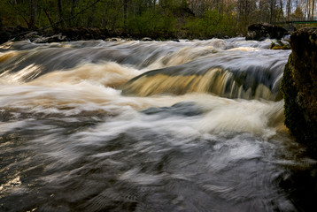
[[(267, 38), (281, 40), (282, 37), (289, 34), (282, 27), (272, 26), (269, 24), (255, 24), (248, 28), (247, 34), (236, 34), (236, 36), (245, 36), (246, 40), (264, 41)], [(102, 28), (88, 27), (66, 27), (58, 29), (35, 29), (28, 30), (25, 27), (0, 27), (0, 43), (7, 41), (23, 41), (30, 40), (36, 43), (45, 42), (70, 42), (70, 41), (87, 41), (87, 40), (110, 40), (112, 38), (122, 38), (130, 40), (144, 41), (177, 41), (178, 39), (193, 39), (189, 32), (182, 32), (182, 35), (168, 34), (166, 32), (158, 32), (157, 34), (127, 34), (123, 30), (110, 32)], [(229, 38), (225, 34), (217, 34), (217, 38)], [(212, 37), (199, 37), (198, 39), (211, 39)]]

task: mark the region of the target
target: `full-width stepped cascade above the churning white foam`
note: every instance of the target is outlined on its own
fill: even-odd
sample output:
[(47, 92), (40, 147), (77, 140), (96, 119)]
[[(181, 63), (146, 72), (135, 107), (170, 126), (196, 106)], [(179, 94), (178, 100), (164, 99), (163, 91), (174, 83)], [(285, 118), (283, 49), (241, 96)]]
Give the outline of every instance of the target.
[[(226, 98), (281, 100), (280, 80), (289, 51), (256, 42), (7, 43), (0, 76), (31, 81), (81, 64), (113, 62), (143, 74), (121, 87), (125, 95), (211, 93)], [(52, 79), (53, 80), (53, 79)], [(122, 81), (122, 83), (125, 81)], [(119, 85), (115, 85), (116, 87)]]

